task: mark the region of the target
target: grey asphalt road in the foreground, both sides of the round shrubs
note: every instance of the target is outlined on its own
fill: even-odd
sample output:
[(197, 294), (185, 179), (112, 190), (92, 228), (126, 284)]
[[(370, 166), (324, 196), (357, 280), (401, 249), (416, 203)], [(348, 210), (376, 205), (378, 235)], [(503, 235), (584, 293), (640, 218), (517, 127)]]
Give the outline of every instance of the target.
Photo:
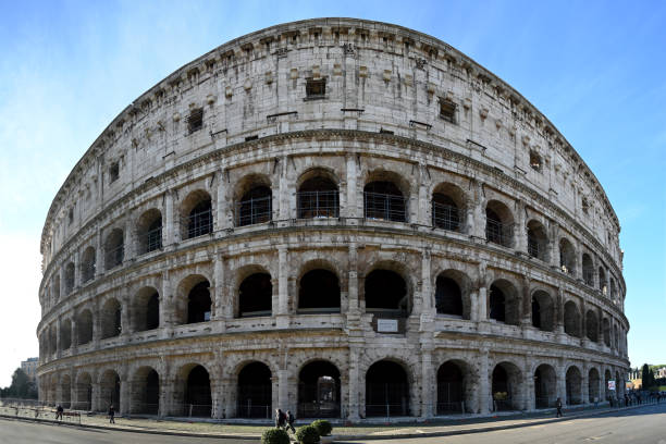
[[(371, 444), (666, 444), (666, 403), (551, 424), (466, 435), (372, 440)], [(108, 430), (90, 430), (0, 419), (4, 444), (231, 444), (259, 440), (168, 436)], [(361, 441), (349, 441), (361, 443)]]

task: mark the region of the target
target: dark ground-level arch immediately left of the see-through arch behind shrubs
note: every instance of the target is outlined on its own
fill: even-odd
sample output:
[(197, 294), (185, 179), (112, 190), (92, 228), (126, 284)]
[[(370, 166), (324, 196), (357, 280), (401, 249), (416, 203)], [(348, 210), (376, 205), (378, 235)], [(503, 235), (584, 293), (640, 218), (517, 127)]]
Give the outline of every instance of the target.
[(236, 416), (271, 418), (271, 370), (262, 362), (250, 362), (238, 373)]

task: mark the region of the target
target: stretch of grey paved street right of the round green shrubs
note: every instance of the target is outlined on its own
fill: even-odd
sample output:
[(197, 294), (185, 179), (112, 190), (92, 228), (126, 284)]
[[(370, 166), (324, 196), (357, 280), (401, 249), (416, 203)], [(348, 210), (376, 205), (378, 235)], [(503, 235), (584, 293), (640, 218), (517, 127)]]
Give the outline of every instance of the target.
[[(571, 421), (446, 437), (382, 440), (372, 444), (666, 444), (666, 404)], [(353, 443), (351, 441), (344, 443)], [(354, 443), (361, 443), (356, 441)]]

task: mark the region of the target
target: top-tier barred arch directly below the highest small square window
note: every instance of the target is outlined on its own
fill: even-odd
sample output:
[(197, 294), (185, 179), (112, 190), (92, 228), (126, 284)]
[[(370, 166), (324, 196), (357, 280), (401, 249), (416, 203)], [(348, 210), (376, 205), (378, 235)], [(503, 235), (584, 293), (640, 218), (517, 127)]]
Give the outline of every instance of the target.
[(337, 218), (340, 193), (331, 178), (319, 173), (300, 184), (296, 194), (298, 219)]

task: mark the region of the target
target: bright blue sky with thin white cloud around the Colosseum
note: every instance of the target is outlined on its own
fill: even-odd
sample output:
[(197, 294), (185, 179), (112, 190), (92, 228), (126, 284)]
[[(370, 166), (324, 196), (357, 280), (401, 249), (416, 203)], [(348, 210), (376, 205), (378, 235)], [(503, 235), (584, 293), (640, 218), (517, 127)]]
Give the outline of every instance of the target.
[(578, 150), (622, 226), (632, 366), (666, 363), (666, 2), (0, 2), (0, 386), (37, 356), (39, 236), (72, 166), (130, 102), (214, 47), (351, 16), (454, 46)]

